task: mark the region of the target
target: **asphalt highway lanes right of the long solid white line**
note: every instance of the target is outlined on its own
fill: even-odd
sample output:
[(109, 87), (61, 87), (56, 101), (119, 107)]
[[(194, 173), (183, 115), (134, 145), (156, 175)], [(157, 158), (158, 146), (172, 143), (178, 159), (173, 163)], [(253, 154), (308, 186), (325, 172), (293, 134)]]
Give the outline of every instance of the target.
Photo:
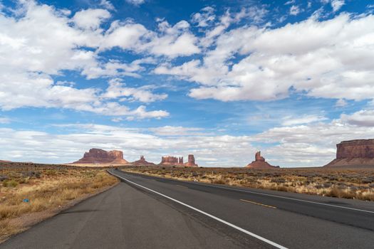
[(175, 181), (122, 171), (113, 173), (137, 189), (174, 198), (286, 248), (372, 248), (374, 245), (371, 202)]

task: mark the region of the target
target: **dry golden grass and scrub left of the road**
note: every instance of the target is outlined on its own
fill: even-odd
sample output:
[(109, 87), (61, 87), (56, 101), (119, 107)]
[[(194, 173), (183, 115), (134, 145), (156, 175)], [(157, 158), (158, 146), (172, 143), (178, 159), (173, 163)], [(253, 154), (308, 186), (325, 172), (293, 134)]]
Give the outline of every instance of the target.
[(0, 242), (118, 182), (105, 169), (0, 164)]

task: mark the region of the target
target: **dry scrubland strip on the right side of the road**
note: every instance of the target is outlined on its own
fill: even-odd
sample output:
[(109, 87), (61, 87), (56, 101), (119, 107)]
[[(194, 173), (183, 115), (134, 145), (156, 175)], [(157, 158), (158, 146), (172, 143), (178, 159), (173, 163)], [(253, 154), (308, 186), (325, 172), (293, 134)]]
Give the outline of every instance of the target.
[(374, 169), (222, 169), (128, 166), (123, 168), (123, 171), (182, 181), (374, 201)]

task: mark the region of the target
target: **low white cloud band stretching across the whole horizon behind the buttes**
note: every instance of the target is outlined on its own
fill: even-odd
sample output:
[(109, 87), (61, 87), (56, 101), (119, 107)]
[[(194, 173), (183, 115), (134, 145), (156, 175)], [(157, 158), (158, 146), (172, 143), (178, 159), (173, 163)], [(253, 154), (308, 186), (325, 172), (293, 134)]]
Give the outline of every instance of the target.
[[(140, 154), (156, 163), (166, 154), (194, 154), (201, 166), (244, 166), (261, 150), (273, 165), (322, 166), (335, 158), (337, 143), (374, 136), (373, 126), (341, 120), (274, 127), (251, 136), (218, 136), (195, 127), (155, 127), (149, 129), (153, 134), (146, 134), (141, 129), (99, 124), (57, 126), (60, 134), (0, 128), (0, 158), (64, 163), (97, 147), (123, 150), (129, 161)], [(257, 143), (261, 145), (254, 145)], [(266, 143), (269, 145), (264, 146)]]

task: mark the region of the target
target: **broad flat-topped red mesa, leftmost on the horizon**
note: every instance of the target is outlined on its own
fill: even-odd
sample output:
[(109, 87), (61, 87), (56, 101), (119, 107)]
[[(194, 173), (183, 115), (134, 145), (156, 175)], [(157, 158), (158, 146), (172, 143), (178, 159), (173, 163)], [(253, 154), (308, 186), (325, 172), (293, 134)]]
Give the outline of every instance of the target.
[(90, 149), (73, 164), (128, 164), (128, 161), (123, 159), (123, 152), (119, 150), (106, 152), (103, 149)]

